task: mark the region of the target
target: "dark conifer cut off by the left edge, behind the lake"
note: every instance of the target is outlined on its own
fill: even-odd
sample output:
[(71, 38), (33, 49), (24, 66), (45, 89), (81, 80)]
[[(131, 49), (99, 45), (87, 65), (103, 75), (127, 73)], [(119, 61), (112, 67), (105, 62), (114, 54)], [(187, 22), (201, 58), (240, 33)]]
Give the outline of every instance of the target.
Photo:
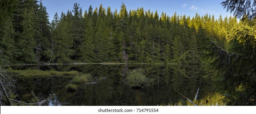
[(16, 0), (0, 1), (0, 66), (16, 61), (17, 49), (14, 42), (14, 29), (11, 22)]

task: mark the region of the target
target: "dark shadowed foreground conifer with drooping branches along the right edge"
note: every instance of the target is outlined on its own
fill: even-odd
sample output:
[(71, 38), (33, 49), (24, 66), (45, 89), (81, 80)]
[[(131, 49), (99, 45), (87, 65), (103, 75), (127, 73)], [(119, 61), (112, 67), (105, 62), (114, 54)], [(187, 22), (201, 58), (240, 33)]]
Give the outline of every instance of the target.
[(212, 64), (219, 71), (227, 105), (256, 105), (256, 0), (226, 0), (222, 5), (242, 20), (229, 36), (229, 50), (211, 42)]

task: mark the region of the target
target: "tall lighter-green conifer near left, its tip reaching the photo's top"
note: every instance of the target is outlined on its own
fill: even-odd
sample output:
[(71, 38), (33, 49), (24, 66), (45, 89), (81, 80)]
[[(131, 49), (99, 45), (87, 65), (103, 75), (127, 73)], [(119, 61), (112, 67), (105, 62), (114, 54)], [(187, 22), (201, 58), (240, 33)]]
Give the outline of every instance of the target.
[[(37, 47), (37, 39), (38, 35), (36, 18), (35, 14), (35, 6), (32, 0), (28, 0), (26, 2), (27, 7), (23, 10), (23, 21), (21, 26), (23, 27), (23, 32), (21, 33), (21, 38), (19, 39), (18, 47), (22, 52), (21, 61), (25, 63), (36, 63), (38, 59), (36, 59), (36, 53), (34, 50), (41, 51), (39, 47)], [(38, 54), (38, 53), (37, 53)]]

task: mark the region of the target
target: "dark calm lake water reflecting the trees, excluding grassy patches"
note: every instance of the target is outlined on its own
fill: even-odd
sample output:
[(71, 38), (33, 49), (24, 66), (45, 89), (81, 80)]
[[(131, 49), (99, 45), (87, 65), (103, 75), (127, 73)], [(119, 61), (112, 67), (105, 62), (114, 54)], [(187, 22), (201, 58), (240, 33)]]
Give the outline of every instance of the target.
[[(198, 99), (216, 92), (213, 72), (207, 65), (54, 65), (13, 66), (13, 69), (33, 70), (77, 70), (87, 73), (97, 84), (78, 85), (75, 92), (69, 92), (66, 85), (74, 76), (18, 77), (18, 100), (36, 96), (50, 99), (49, 105), (177, 105), (186, 99), (175, 90), (194, 100), (199, 88)], [(142, 89), (133, 89), (126, 83), (127, 72), (140, 69), (151, 79)], [(71, 103), (71, 104), (64, 104)]]

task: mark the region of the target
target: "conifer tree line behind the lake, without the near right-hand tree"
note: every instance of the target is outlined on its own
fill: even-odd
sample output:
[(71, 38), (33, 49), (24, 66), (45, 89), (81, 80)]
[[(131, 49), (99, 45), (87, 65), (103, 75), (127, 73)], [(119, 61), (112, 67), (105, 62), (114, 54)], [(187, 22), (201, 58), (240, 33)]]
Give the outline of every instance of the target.
[(242, 24), (219, 15), (169, 16), (143, 7), (120, 11), (102, 4), (55, 13), (49, 22), (42, 1), (18, 0), (1, 22), (0, 50), (10, 63), (177, 63), (201, 64), (210, 41), (229, 48), (229, 36)]

